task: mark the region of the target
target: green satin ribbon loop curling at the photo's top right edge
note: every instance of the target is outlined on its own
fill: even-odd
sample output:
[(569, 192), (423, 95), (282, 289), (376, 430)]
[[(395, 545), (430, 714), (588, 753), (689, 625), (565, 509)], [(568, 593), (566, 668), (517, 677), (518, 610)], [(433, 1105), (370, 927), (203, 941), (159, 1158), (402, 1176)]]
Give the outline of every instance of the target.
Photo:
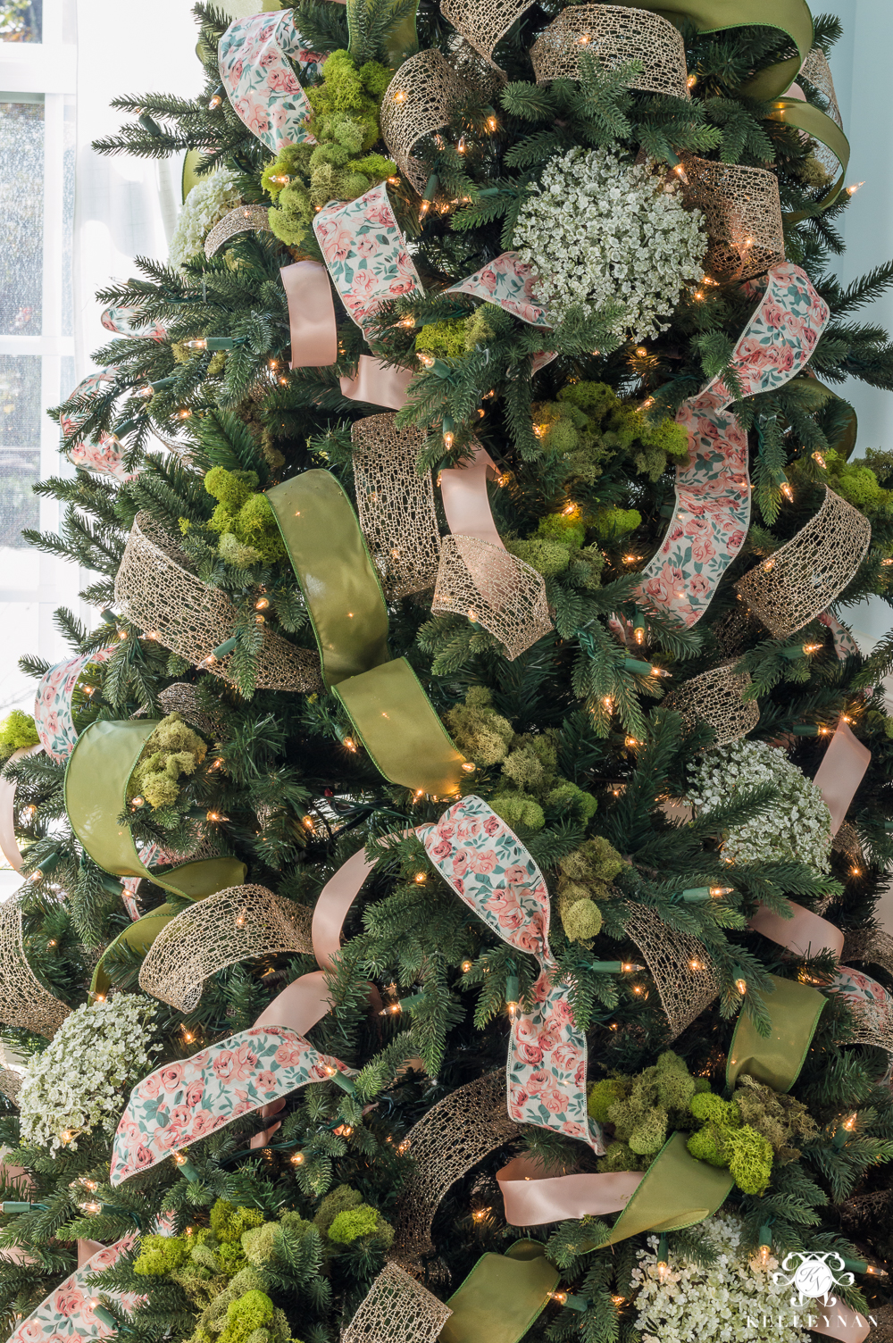
[(724, 32), (728, 28), (744, 28), (760, 24), (787, 32), (796, 46), (799, 56), (780, 60), (768, 70), (760, 70), (741, 85), (741, 91), (759, 102), (778, 98), (796, 79), (803, 62), (812, 47), (812, 16), (804, 0), (681, 0), (666, 4), (665, 0), (615, 0), (631, 9), (650, 9), (669, 19), (677, 28), (689, 20), (701, 32)]

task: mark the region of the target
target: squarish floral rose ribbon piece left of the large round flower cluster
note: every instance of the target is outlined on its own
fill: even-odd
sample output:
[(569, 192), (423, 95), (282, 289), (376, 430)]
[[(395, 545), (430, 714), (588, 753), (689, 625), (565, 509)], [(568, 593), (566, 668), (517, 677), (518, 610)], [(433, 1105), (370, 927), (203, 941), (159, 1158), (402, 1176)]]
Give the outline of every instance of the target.
[(356, 200), (325, 205), (313, 231), (332, 283), (357, 326), (365, 326), (387, 299), (423, 291), (385, 183)]

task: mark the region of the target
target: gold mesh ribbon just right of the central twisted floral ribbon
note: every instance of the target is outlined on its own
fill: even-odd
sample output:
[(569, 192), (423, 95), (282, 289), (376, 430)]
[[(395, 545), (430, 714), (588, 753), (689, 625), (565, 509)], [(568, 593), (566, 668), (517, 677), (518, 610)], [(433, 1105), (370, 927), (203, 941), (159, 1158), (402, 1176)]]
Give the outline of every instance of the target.
[(667, 928), (647, 905), (632, 907), (626, 931), (645, 956), (675, 1039), (720, 991), (713, 963), (704, 943)]

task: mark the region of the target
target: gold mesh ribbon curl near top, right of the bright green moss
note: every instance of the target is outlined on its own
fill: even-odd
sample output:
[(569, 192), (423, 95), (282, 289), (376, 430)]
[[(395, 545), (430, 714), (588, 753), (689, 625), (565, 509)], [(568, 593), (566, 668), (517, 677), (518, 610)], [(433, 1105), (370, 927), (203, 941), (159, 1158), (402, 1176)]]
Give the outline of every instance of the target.
[(381, 101), (381, 138), (404, 177), (422, 193), (428, 172), (412, 148), (453, 120), (467, 87), (446, 56), (431, 47), (404, 60)]

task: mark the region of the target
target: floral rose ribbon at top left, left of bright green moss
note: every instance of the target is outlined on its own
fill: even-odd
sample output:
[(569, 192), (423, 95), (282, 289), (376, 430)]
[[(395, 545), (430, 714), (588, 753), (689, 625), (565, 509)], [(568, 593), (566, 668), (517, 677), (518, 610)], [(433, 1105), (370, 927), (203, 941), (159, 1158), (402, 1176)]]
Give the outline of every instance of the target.
[(223, 34), (223, 87), (235, 114), (274, 154), (282, 145), (316, 144), (306, 129), (312, 107), (291, 62), (314, 79), (324, 59), (305, 46), (291, 9), (236, 19)]

